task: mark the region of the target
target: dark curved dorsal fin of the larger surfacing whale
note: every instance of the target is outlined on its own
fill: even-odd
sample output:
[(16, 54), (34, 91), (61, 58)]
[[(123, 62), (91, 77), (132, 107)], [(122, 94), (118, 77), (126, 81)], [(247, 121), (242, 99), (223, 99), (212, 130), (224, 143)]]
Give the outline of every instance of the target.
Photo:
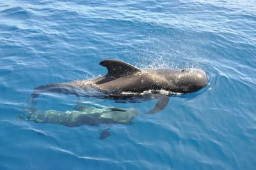
[(139, 68), (119, 60), (106, 59), (101, 61), (100, 65), (108, 68), (107, 76), (111, 77), (121, 77), (122, 75), (140, 72)]

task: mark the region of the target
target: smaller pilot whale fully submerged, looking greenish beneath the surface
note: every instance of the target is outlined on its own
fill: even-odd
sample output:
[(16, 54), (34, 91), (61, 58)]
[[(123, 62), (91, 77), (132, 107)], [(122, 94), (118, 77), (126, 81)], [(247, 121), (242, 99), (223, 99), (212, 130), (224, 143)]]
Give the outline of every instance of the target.
[[(86, 104), (86, 105), (84, 105)], [(20, 118), (35, 121), (36, 123), (53, 123), (66, 127), (79, 127), (82, 125), (98, 126), (113, 124), (132, 124), (132, 119), (140, 114), (134, 108), (106, 107), (92, 102), (79, 102), (75, 110), (71, 111), (26, 111), (28, 116)], [(110, 135), (109, 127), (100, 133), (100, 139)]]

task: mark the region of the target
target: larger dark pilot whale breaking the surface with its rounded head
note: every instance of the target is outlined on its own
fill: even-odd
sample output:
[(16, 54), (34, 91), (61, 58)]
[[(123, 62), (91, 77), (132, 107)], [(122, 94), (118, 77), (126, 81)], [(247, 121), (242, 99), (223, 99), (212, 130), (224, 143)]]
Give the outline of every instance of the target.
[[(147, 113), (159, 112), (173, 93), (193, 93), (207, 84), (207, 75), (196, 68), (139, 69), (124, 61), (107, 59), (100, 62), (108, 73), (96, 79), (47, 84), (35, 88), (33, 98), (40, 93), (65, 93), (81, 97), (112, 98), (117, 102), (157, 98), (156, 107)], [(88, 93), (90, 91), (90, 93)], [(94, 92), (92, 92), (94, 91)], [(148, 94), (145, 91), (151, 91)], [(167, 91), (168, 93), (161, 93)]]

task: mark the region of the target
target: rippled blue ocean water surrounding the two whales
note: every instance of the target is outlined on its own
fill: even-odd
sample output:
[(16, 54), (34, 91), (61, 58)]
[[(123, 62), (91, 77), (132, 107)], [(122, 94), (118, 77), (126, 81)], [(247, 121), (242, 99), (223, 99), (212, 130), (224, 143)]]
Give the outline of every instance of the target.
[[(106, 73), (103, 59), (138, 68), (201, 68), (209, 84), (170, 98), (132, 125), (64, 127), (19, 120), (33, 89)], [(255, 169), (255, 1), (0, 2), (0, 169)], [(40, 97), (40, 109), (78, 100)]]

